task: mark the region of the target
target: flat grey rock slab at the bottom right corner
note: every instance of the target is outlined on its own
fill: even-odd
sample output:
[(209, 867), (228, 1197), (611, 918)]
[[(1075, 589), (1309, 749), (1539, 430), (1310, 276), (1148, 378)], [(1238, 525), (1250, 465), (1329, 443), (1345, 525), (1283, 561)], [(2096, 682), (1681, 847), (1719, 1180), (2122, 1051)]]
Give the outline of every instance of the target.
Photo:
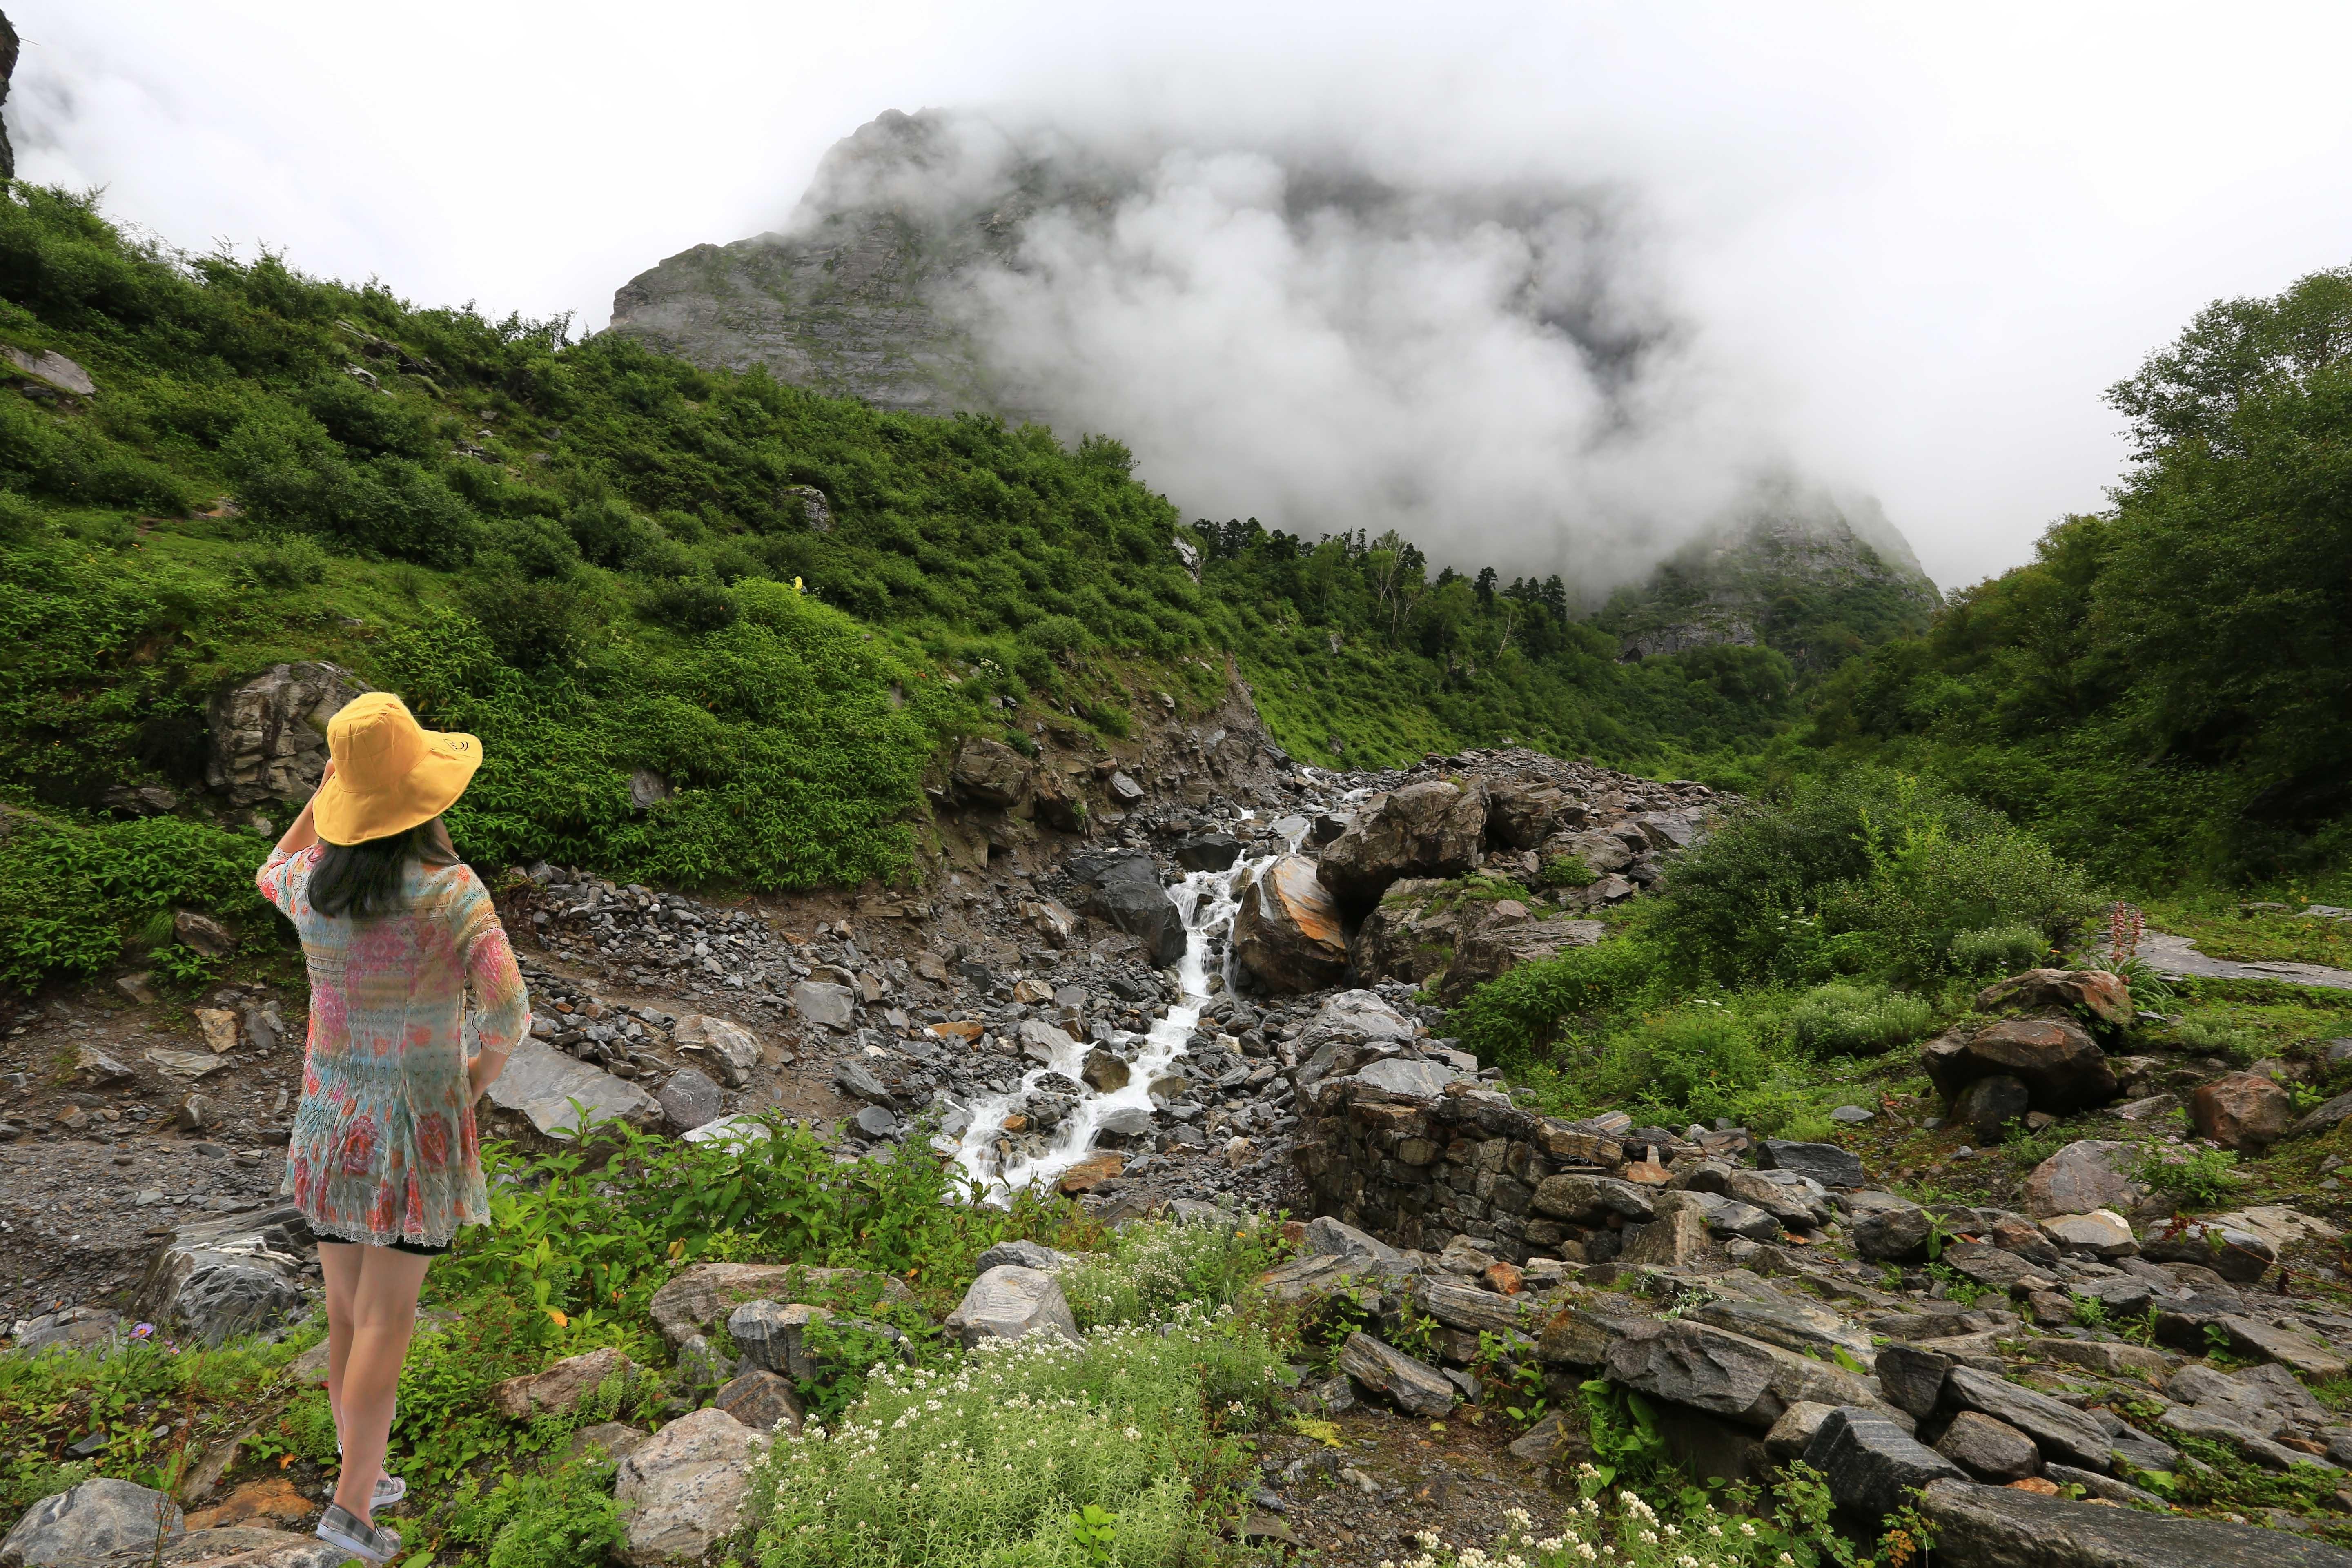
[(2067, 1502), (1959, 1476), (1931, 1479), (1919, 1512), (1938, 1568), (2352, 1568), (2307, 1535), (2218, 1519)]

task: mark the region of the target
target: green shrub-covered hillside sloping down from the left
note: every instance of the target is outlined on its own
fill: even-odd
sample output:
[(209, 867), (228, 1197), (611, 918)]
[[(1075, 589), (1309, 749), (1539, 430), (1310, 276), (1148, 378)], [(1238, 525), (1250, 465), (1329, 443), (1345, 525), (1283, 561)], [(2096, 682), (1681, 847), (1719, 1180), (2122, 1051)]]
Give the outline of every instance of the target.
[[(0, 200), (0, 346), (96, 383), (0, 386), (0, 903), (64, 910), (16, 917), (19, 980), (242, 898), (252, 827), (106, 799), (191, 795), (207, 696), (278, 661), (485, 736), (473, 858), (755, 889), (910, 877), (946, 743), (1124, 733), (1131, 691), (1218, 698), (1214, 654), (1324, 764), (1510, 736), (1738, 778), (1795, 715), (1780, 654), (1618, 663), (1557, 578), (1181, 529), (1110, 437), (172, 254), (59, 190)], [(635, 809), (633, 769), (675, 797)]]

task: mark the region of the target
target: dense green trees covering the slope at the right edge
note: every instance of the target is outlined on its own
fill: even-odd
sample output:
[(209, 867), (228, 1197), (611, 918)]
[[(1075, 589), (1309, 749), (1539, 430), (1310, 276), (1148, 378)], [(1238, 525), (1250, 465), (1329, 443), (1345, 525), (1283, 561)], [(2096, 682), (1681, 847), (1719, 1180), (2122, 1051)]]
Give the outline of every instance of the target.
[(1835, 675), (1813, 745), (2112, 875), (2338, 867), (2352, 820), (2352, 268), (2201, 310), (2110, 388), (2110, 510)]

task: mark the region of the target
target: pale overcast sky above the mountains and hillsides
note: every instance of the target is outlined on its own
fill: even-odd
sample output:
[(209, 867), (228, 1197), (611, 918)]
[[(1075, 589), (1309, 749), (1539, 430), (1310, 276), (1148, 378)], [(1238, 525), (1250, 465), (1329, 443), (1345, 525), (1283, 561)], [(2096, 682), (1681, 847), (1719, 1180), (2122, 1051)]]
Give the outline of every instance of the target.
[(661, 256), (779, 226), (882, 108), (1242, 115), (1576, 174), (1945, 588), (2100, 505), (2100, 388), (2197, 306), (2352, 263), (2345, 5), (0, 7), (24, 179), (586, 327)]

